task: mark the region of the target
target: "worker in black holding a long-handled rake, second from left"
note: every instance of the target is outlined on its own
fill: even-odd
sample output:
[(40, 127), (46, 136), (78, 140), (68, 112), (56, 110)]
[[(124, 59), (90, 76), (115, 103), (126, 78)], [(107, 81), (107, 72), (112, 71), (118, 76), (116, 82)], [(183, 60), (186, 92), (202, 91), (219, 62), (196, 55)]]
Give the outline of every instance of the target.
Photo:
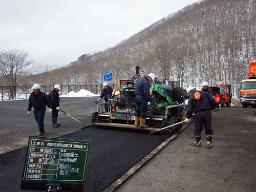
[(48, 94), (52, 104), (52, 126), (58, 127), (60, 123), (57, 123), (58, 112), (59, 112), (59, 90), (60, 85), (55, 84), (53, 90)]

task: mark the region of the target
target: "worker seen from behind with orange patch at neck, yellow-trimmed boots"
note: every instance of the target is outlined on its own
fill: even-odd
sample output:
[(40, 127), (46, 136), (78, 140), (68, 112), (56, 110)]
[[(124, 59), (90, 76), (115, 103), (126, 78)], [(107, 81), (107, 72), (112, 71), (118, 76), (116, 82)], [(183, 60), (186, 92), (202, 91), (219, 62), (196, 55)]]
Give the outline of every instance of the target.
[(215, 110), (216, 101), (214, 97), (203, 91), (193, 91), (188, 100), (186, 107), (186, 119), (188, 122), (193, 114), (195, 113), (195, 130), (194, 135), (196, 142), (192, 143), (193, 146), (201, 146), (201, 132), (203, 131), (203, 125), (206, 134), (207, 148), (212, 147), (212, 134), (214, 133), (211, 129), (211, 110)]

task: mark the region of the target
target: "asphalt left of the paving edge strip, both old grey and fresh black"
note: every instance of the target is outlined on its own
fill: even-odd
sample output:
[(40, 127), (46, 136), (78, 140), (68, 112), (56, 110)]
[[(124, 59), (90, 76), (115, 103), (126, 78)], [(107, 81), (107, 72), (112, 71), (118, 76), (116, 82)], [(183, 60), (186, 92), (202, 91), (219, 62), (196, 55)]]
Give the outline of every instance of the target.
[[(61, 98), (61, 109), (84, 124), (91, 123), (95, 111), (95, 98)], [(37, 135), (33, 116), (27, 116), (27, 100), (0, 102), (2, 129), (0, 132), (0, 191), (21, 191), (28, 137)], [(59, 114), (61, 126), (51, 127), (50, 114), (46, 114), (45, 137), (59, 137), (91, 141), (84, 191), (102, 191), (121, 177), (127, 170), (152, 152), (170, 135), (148, 132), (100, 129), (82, 126), (65, 114)], [(15, 151), (13, 151), (15, 150)]]

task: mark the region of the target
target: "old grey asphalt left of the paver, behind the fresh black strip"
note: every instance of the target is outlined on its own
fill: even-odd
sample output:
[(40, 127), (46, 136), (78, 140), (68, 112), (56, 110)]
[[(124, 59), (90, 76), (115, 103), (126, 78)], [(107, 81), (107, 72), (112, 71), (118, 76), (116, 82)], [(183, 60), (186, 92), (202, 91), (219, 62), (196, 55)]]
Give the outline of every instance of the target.
[[(60, 98), (60, 109), (85, 125), (91, 124), (92, 113), (96, 111), (95, 100), (97, 97)], [(38, 135), (33, 112), (28, 117), (28, 99), (1, 101), (0, 109), (0, 154), (27, 146), (28, 136)], [(59, 112), (58, 117), (58, 123), (61, 123), (61, 126), (53, 128), (51, 123), (51, 114), (47, 110), (45, 137), (59, 137), (79, 131), (83, 127), (82, 124), (62, 112)]]

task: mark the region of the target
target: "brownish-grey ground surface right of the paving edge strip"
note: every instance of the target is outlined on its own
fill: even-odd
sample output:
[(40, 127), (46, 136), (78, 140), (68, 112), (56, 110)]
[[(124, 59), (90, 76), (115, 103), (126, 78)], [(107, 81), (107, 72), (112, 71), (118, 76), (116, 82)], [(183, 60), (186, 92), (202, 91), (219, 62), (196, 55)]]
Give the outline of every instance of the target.
[[(236, 102), (235, 102), (236, 103)], [(255, 109), (254, 109), (255, 110)], [(213, 147), (194, 142), (194, 123), (117, 192), (256, 191), (256, 116), (253, 109), (222, 108), (212, 115)]]

